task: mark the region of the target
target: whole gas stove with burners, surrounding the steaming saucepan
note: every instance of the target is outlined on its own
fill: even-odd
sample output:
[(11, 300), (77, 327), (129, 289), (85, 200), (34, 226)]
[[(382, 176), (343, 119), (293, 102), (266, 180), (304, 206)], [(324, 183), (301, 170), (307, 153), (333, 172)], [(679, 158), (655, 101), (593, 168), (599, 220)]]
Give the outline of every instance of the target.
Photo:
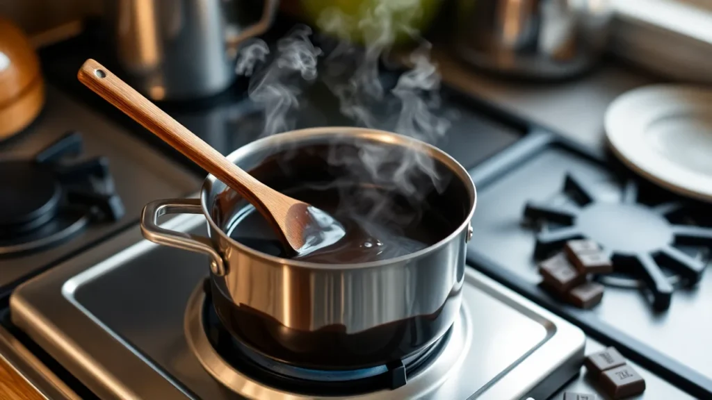
[[(117, 70), (102, 40), (88, 31), (41, 52), (48, 106), (28, 132), (0, 146), (3, 156), (51, 169), (56, 179), (45, 186), (55, 191), (44, 189), (44, 201), (23, 204), (26, 214), (53, 205), (56, 213), (42, 218), (71, 209), (83, 221), (80, 229), (58, 230), (62, 240), (0, 259), (0, 270), (15, 274), (0, 275), (9, 282), (6, 294), (12, 290), (9, 298), (0, 293), (0, 353), (46, 394), (543, 400), (573, 390), (605, 399), (580, 365), (584, 352), (615, 345), (646, 379), (639, 399), (712, 395), (706, 365), (712, 354), (698, 346), (708, 330), (700, 316), (712, 298), (712, 278), (704, 273), (712, 221), (700, 212), (703, 205), (452, 88), (441, 97), (459, 117), (434, 144), (463, 164), (478, 188), (454, 325), (418, 354), (355, 371), (300, 368), (251, 352), (224, 330), (206, 300), (208, 260), (141, 236), (142, 206), (196, 193), (204, 172), (77, 82), (86, 58)], [(302, 95), (306, 106), (295, 128), (354, 125), (323, 84)], [(223, 154), (261, 135), (263, 115), (244, 81), (214, 98), (160, 107)], [(70, 159), (78, 142), (82, 157)], [(35, 232), (41, 223), (31, 221), (40, 214), (13, 226)], [(164, 224), (205, 231), (201, 216)], [(597, 276), (606, 289), (592, 310), (566, 305), (539, 285), (538, 261), (571, 238), (597, 241), (616, 268)]]

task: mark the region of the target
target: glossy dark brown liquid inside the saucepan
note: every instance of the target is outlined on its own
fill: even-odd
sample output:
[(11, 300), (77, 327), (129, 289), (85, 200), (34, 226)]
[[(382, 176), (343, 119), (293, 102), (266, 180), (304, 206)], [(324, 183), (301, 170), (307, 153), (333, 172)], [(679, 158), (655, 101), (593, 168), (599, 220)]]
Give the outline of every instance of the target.
[[(299, 260), (313, 263), (367, 263), (405, 256), (445, 238), (454, 226), (429, 209), (377, 186), (305, 184), (285, 191), (321, 209), (342, 224), (345, 236)], [(252, 207), (243, 211), (231, 238), (272, 256), (288, 257), (268, 223)]]

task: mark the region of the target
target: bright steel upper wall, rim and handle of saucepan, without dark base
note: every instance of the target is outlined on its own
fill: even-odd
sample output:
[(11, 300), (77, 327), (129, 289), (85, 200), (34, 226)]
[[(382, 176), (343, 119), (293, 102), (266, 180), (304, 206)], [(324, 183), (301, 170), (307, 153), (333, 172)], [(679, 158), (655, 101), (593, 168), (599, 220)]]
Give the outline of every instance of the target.
[[(237, 149), (228, 159), (249, 170), (277, 149), (327, 144), (337, 137), (358, 138), (426, 152), (449, 168), (454, 177), (461, 179), (468, 191), (470, 198), (462, 199), (468, 209), (465, 221), (441, 242), (390, 260), (341, 265), (288, 260), (255, 251), (224, 233), (226, 227), (214, 221), (214, 208), (217, 204), (224, 204), (224, 199), (218, 200), (227, 189), (225, 184), (209, 175), (201, 190), (203, 214), (208, 221), (213, 248), (222, 258), (226, 271), (224, 275), (212, 276), (217, 287), (236, 305), (246, 305), (273, 317), (286, 327), (308, 332), (328, 325), (343, 325), (348, 333), (362, 332), (409, 317), (455, 310), (457, 307), (443, 306), (448, 301), (459, 302), (464, 249), (469, 219), (476, 205), (476, 192), (466, 170), (441, 150), (389, 132), (325, 127), (266, 137)], [(164, 206), (167, 204), (186, 206), (175, 201), (168, 201)], [(155, 204), (150, 208), (160, 210)], [(229, 214), (233, 211), (220, 212)], [(191, 238), (156, 230), (152, 221), (155, 221), (155, 216), (146, 212), (142, 231), (149, 240), (208, 253), (214, 263), (219, 263), (214, 251), (206, 251), (206, 239), (199, 238), (187, 245)], [(305, 282), (309, 283), (308, 290), (303, 289)], [(310, 305), (311, 309), (305, 310), (305, 305)], [(456, 312), (449, 314), (444, 319), (454, 321)]]

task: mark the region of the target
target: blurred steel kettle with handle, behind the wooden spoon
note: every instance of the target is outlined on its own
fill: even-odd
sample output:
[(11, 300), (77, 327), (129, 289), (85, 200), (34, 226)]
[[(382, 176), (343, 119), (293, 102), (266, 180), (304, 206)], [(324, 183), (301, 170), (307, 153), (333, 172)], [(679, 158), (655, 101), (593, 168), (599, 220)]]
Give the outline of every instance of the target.
[(190, 100), (233, 83), (240, 44), (267, 31), (278, 9), (264, 1), (249, 25), (246, 0), (106, 0), (105, 16), (134, 88), (152, 100)]

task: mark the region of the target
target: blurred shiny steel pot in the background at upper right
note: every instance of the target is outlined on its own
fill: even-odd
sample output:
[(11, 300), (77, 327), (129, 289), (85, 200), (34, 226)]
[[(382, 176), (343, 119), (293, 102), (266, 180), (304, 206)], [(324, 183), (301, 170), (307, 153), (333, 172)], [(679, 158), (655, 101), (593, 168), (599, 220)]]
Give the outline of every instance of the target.
[(600, 58), (610, 0), (459, 0), (454, 49), (483, 70), (567, 78)]

